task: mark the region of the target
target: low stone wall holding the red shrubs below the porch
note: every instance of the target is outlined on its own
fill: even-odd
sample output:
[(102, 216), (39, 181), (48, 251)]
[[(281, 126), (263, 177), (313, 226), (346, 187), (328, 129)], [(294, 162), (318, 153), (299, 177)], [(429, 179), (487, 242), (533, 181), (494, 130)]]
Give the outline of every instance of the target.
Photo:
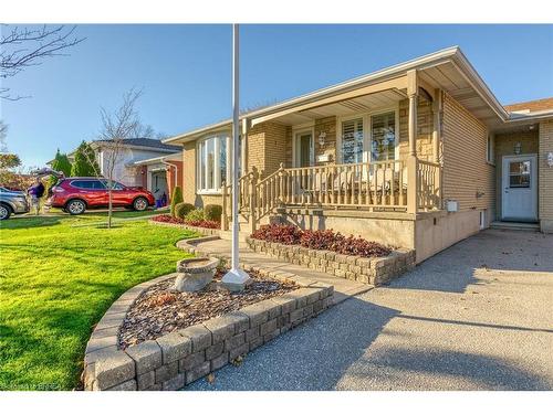
[(298, 245), (271, 243), (248, 237), (248, 246), (258, 253), (301, 265), (317, 272), (374, 286), (387, 284), (415, 267), (415, 251), (396, 250), (385, 257), (359, 257)]

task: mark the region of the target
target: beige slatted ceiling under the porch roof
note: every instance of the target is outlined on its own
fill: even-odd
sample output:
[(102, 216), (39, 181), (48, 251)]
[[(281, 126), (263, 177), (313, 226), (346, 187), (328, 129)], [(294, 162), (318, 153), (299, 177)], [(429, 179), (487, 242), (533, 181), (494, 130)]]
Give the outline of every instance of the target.
[(328, 116), (348, 116), (353, 114), (371, 112), (378, 108), (386, 108), (397, 105), (401, 99), (405, 99), (407, 94), (405, 89), (397, 88), (387, 89), (369, 95), (357, 96), (351, 99), (344, 99), (328, 105), (323, 105), (293, 114), (286, 114), (274, 121), (284, 125), (301, 125), (310, 123), (314, 119), (325, 118)]

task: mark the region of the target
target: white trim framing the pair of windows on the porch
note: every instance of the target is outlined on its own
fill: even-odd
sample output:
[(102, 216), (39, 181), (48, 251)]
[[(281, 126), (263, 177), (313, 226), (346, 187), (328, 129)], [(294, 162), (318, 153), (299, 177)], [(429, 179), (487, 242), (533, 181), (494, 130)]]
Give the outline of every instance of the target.
[(373, 161), (373, 151), (371, 150), (373, 147), (373, 116), (382, 115), (386, 113), (395, 114), (395, 123), (396, 123), (396, 140), (395, 140), (395, 151), (394, 158), (395, 160), (399, 160), (399, 102), (397, 105), (375, 108), (368, 112), (359, 112), (346, 116), (336, 117), (336, 162), (344, 163), (343, 153), (342, 153), (342, 123), (362, 118), (363, 119), (363, 162), (375, 162)]

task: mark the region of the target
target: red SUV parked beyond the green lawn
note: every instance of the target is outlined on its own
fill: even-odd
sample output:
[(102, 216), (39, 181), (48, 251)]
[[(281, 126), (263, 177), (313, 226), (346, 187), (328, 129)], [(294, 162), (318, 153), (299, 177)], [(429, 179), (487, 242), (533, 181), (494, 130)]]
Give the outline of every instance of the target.
[[(108, 204), (107, 180), (91, 177), (61, 179), (50, 190), (46, 205), (61, 208), (70, 214), (82, 214), (86, 209), (105, 208)], [(113, 181), (112, 203), (144, 211), (154, 205), (154, 195), (139, 187), (125, 187)]]

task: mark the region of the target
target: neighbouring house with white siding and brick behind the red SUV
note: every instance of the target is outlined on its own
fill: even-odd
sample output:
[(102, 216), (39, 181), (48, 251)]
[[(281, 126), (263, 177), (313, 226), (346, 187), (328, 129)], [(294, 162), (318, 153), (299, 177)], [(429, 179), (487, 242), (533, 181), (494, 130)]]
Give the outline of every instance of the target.
[[(104, 150), (108, 144), (108, 140), (90, 142), (96, 152), (102, 176), (106, 174), (107, 160), (104, 157)], [(177, 161), (171, 162), (178, 164), (178, 160), (181, 158), (180, 146), (164, 144), (159, 139), (153, 138), (127, 138), (123, 140), (121, 148), (114, 169), (114, 180), (128, 187), (144, 187), (154, 194), (156, 202), (158, 200), (166, 200), (167, 202), (170, 194), (168, 183), (170, 178), (167, 177), (168, 166), (164, 163), (163, 159), (174, 156)], [(67, 155), (71, 162), (74, 160), (74, 153), (75, 151)], [(149, 162), (150, 160), (158, 161)], [(173, 174), (175, 174), (175, 171)], [(178, 176), (178, 173), (176, 174)]]

